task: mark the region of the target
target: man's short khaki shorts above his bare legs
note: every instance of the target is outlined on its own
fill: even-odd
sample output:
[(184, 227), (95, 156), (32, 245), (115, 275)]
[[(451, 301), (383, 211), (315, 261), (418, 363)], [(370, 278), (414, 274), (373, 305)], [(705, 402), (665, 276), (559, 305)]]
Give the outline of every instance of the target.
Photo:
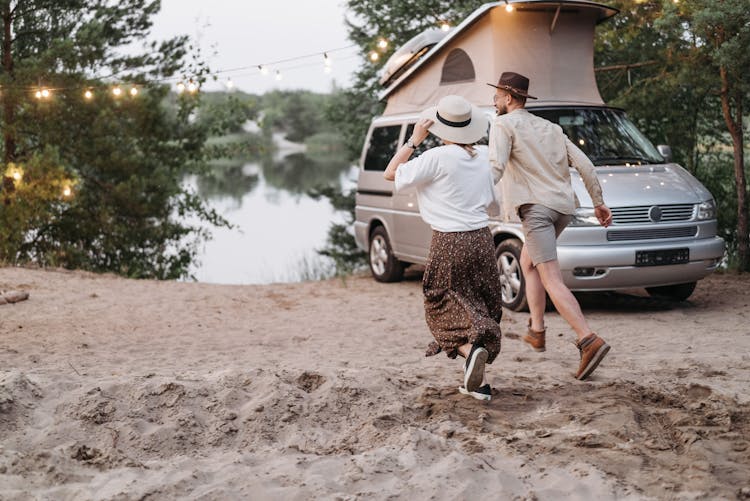
[(568, 226), (572, 216), (539, 204), (524, 204), (518, 208), (524, 247), (534, 266), (557, 259), (557, 237)]

